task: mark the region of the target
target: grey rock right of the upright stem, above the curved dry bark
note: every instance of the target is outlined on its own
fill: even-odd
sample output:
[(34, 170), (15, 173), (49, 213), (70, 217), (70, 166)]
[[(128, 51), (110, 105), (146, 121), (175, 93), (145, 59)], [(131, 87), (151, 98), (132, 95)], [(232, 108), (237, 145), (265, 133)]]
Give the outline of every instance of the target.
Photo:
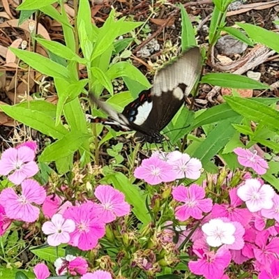
[(216, 49), (218, 50), (219, 54), (225, 54), (226, 56), (242, 54), (246, 51), (247, 47), (248, 45), (246, 45), (246, 43), (242, 43), (241, 41), (229, 35), (221, 37), (216, 44)]

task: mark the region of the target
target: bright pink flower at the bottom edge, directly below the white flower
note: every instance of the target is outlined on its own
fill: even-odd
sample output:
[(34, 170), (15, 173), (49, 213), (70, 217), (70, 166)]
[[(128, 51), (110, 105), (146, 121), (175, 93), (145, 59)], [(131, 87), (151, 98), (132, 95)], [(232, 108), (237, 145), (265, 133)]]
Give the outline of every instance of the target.
[(188, 267), (191, 272), (197, 275), (204, 276), (206, 279), (221, 279), (225, 268), (231, 262), (231, 254), (229, 250), (221, 247), (216, 253), (194, 250), (199, 257), (196, 262), (190, 261)]

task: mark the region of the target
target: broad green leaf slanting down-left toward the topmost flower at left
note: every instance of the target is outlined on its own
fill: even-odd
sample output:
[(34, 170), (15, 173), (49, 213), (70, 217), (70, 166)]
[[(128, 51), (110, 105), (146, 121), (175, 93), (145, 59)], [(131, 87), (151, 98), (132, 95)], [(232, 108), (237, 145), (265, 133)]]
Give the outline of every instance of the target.
[(38, 158), (39, 162), (52, 162), (67, 157), (77, 151), (91, 135), (81, 134), (80, 131), (69, 132), (67, 135), (47, 146)]

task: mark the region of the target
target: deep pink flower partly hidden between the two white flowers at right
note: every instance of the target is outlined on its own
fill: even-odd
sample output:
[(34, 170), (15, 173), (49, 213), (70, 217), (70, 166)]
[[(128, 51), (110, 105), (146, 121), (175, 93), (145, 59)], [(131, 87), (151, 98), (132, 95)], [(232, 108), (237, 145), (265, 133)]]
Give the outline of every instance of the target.
[(230, 204), (214, 204), (211, 214), (213, 218), (226, 217), (231, 221), (241, 223), (244, 227), (248, 225), (252, 218), (252, 213), (248, 209), (239, 208), (243, 202), (236, 195), (237, 188), (229, 190)]

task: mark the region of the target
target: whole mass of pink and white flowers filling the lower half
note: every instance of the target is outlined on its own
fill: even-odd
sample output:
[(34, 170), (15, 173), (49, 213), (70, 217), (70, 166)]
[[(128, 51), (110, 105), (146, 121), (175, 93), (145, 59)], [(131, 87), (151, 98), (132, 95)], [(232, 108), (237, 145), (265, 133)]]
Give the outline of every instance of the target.
[[(49, 246), (73, 246), (65, 257), (47, 263), (57, 276), (127, 278), (114, 274), (119, 264), (123, 272), (135, 270), (152, 278), (163, 267), (175, 268), (182, 249), (190, 259), (185, 262), (188, 273), (206, 279), (232, 278), (238, 266), (250, 266), (259, 279), (279, 277), (279, 195), (259, 176), (269, 165), (256, 153), (235, 149), (245, 169), (223, 169), (204, 181), (196, 158), (179, 151), (153, 153), (134, 175), (152, 186), (164, 184), (147, 186), (151, 198), (146, 205), (153, 220), (139, 230), (128, 216), (131, 206), (125, 195), (110, 185), (97, 185), (85, 197), (78, 192), (80, 199), (70, 185), (61, 186), (61, 193), (69, 195), (40, 186), (32, 179), (38, 172), (35, 153), (34, 142), (2, 153), (0, 174), (14, 185), (0, 193), (0, 236), (15, 220), (24, 227), (36, 223)], [(183, 179), (194, 181), (184, 185)], [(133, 218), (142, 214), (143, 206), (134, 205)], [(37, 279), (50, 277), (48, 266), (36, 264)]]

